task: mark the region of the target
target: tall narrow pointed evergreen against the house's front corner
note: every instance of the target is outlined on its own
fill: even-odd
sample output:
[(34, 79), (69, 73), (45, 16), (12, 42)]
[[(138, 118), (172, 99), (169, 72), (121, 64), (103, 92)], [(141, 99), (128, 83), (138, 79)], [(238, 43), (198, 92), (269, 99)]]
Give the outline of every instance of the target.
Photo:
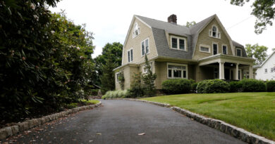
[(142, 81), (144, 83), (145, 95), (154, 96), (156, 93), (154, 80), (157, 79), (157, 74), (153, 74), (152, 67), (148, 61), (147, 55), (145, 55), (145, 70), (147, 70), (147, 73), (142, 74)]

